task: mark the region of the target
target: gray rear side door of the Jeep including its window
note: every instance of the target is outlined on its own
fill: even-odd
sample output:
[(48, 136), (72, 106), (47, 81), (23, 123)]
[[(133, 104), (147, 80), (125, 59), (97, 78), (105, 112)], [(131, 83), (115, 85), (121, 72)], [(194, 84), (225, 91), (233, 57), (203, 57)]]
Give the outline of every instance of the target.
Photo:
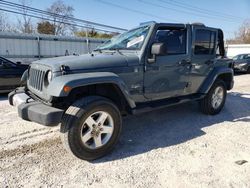
[(218, 45), (217, 36), (217, 29), (193, 26), (190, 94), (197, 92), (205, 78), (213, 70)]

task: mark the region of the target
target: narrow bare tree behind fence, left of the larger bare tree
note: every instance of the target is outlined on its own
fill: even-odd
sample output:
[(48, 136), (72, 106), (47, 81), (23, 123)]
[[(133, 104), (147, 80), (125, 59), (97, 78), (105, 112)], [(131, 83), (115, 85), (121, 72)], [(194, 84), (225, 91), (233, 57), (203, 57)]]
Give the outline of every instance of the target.
[(31, 21), (31, 17), (29, 17), (28, 10), (25, 6), (29, 6), (31, 4), (31, 0), (19, 0), (22, 5), (22, 19), (18, 18), (18, 28), (22, 33), (33, 33), (33, 24)]

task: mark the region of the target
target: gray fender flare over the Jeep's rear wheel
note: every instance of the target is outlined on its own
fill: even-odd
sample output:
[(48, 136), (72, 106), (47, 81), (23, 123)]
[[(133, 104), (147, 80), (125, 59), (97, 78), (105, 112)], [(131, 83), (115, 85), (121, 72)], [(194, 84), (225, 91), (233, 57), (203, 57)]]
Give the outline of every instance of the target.
[(206, 94), (212, 87), (215, 80), (220, 77), (221, 75), (230, 74), (232, 76), (232, 84), (233, 84), (233, 69), (229, 67), (215, 67), (213, 71), (209, 74), (206, 80), (203, 82), (201, 87), (199, 88), (199, 93)]

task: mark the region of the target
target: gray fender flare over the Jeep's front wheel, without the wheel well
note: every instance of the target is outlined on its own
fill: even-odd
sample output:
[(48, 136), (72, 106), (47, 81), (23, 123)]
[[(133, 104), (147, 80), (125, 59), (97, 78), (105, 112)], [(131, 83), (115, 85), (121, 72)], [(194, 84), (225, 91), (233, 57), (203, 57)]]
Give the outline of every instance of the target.
[(130, 107), (135, 107), (135, 102), (131, 98), (125, 83), (118, 75), (111, 72), (79, 73), (58, 76), (51, 81), (47, 90), (50, 96), (66, 97), (69, 95), (69, 92), (64, 92), (64, 86), (69, 86), (72, 90), (77, 87), (102, 83), (110, 83), (118, 86)]

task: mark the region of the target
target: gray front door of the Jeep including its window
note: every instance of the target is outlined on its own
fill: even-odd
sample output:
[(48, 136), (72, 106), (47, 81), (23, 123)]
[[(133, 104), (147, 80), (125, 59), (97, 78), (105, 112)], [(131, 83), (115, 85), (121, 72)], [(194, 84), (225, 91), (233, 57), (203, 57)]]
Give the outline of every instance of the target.
[(166, 43), (166, 55), (146, 62), (144, 95), (148, 99), (163, 99), (185, 95), (191, 67), (190, 32), (185, 27), (158, 27), (151, 43)]

